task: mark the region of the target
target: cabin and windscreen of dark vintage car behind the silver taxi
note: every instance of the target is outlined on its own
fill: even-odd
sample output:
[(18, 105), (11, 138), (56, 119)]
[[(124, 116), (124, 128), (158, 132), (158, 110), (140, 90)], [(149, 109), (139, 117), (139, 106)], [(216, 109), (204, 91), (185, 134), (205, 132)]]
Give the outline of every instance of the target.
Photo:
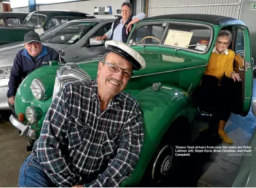
[(32, 27), (41, 34), (65, 22), (85, 18), (95, 18), (95, 16), (74, 11), (41, 10), (31, 12), (22, 22), (22, 26)]

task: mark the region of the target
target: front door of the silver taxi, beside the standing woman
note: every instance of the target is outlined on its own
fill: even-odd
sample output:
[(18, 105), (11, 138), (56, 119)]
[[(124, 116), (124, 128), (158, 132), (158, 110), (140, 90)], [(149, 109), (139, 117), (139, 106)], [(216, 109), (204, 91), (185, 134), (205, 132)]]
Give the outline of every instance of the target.
[[(112, 22), (102, 25), (100, 28), (97, 29), (89, 38), (95, 38), (96, 36), (103, 36), (106, 32), (111, 29)], [(89, 38), (81, 46), (81, 53), (83, 59), (91, 59), (97, 58), (98, 56), (104, 55), (106, 52), (105, 45), (90, 45)]]

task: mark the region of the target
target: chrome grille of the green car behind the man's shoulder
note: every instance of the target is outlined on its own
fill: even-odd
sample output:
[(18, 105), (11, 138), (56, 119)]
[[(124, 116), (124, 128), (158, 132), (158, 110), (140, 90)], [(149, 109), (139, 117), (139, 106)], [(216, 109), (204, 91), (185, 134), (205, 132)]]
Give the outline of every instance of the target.
[(52, 100), (54, 100), (62, 86), (78, 80), (91, 80), (91, 77), (83, 69), (78, 68), (76, 63), (66, 63), (61, 66), (56, 73)]

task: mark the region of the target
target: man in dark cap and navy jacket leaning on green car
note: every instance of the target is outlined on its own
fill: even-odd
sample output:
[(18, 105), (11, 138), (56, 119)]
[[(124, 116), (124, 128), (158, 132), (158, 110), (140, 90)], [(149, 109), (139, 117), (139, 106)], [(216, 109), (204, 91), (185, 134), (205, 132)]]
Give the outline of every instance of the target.
[(48, 65), (49, 61), (58, 61), (59, 53), (54, 49), (42, 45), (38, 33), (31, 31), (24, 36), (24, 46), (16, 54), (9, 78), (9, 90), (7, 92), (8, 104), (15, 115), (14, 101), (19, 84), (33, 70)]

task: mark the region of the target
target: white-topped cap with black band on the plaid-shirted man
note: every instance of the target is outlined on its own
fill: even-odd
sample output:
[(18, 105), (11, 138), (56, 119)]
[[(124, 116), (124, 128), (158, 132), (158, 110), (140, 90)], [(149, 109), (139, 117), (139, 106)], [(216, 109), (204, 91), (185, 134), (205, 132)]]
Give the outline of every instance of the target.
[(138, 52), (130, 46), (119, 41), (106, 41), (105, 46), (108, 52), (117, 53), (132, 64), (133, 70), (145, 69), (146, 62)]

